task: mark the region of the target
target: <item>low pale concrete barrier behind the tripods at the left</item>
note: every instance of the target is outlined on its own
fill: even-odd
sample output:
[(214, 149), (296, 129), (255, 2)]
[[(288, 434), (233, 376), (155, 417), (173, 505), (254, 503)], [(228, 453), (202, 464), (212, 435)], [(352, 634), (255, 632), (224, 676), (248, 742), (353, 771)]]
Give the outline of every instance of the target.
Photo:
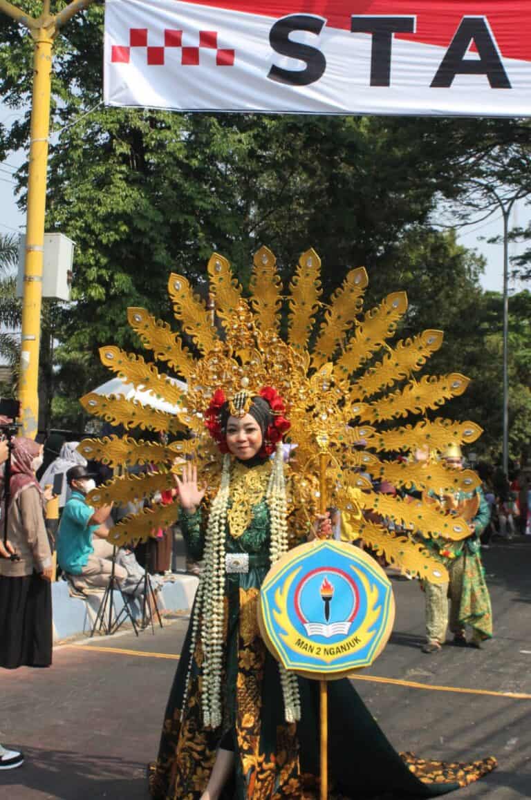
[[(162, 591), (156, 594), (159, 610), (187, 613), (194, 602), (198, 579), (186, 574), (177, 574), (173, 578), (165, 582)], [(90, 634), (102, 599), (103, 592), (87, 594), (86, 598), (72, 597), (66, 581), (53, 583), (54, 643)], [(119, 614), (123, 608), (122, 597), (116, 591), (113, 592), (113, 608), (115, 614)], [(130, 609), (133, 618), (142, 616), (142, 603), (139, 600), (133, 600)]]

